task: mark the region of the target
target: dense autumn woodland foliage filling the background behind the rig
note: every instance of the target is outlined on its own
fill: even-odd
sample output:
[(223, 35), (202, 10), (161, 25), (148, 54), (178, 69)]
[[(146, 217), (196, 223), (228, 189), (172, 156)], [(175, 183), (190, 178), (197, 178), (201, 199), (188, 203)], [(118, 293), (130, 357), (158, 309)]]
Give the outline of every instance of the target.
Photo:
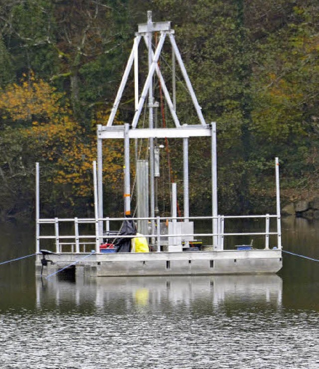
[[(284, 201), (318, 191), (318, 1), (0, 0), (0, 217), (30, 214), (36, 161), (42, 212), (92, 211), (96, 124), (107, 121), (148, 9), (172, 22), (206, 122), (217, 122), (220, 212), (274, 205), (275, 156)], [(160, 68), (170, 86), (166, 46)], [(158, 124), (169, 126), (157, 81), (154, 89)], [(118, 122), (133, 116), (132, 91), (130, 79)], [(176, 93), (180, 122), (196, 122), (179, 70)], [(166, 210), (169, 181), (182, 179), (181, 143), (162, 143)], [(120, 212), (123, 143), (103, 150), (105, 205)], [(190, 140), (194, 214), (211, 207), (209, 153), (209, 140)]]

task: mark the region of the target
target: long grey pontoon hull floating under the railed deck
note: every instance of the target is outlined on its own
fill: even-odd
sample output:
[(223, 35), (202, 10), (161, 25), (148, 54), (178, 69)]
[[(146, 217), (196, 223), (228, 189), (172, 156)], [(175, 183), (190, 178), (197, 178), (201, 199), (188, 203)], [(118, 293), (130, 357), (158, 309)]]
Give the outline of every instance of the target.
[[(52, 254), (54, 264), (43, 268), (43, 276), (72, 263), (75, 275), (91, 277), (277, 273), (283, 265), (280, 249), (99, 253), (83, 259), (86, 255)], [(37, 255), (36, 274), (41, 272), (40, 259)]]

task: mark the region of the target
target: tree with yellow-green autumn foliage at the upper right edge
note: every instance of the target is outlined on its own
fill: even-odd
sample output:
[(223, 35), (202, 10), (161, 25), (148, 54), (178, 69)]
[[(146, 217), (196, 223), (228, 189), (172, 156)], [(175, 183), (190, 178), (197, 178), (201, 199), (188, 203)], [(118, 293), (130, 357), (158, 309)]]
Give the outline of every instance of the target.
[(256, 153), (281, 156), (289, 177), (316, 172), (319, 160), (317, 14), (318, 4), (300, 2), (286, 14), (285, 26), (256, 41), (251, 125)]

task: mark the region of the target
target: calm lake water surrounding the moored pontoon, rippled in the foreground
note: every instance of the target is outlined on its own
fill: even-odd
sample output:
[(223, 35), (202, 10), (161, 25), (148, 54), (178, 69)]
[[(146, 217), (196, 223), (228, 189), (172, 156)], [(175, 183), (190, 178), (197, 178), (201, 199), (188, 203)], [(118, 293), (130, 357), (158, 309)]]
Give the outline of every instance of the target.
[[(34, 253), (33, 223), (0, 224), (0, 262)], [(319, 221), (282, 231), (285, 250), (319, 259)], [(319, 262), (283, 264), (76, 281), (35, 277), (33, 256), (0, 265), (0, 368), (319, 368)]]

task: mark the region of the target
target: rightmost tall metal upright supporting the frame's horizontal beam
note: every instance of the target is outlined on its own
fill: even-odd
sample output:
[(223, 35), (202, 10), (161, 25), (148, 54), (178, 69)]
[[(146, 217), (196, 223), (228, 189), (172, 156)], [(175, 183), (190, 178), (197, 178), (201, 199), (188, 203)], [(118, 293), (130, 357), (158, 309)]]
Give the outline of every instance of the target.
[[(217, 234), (217, 142), (216, 122), (211, 123), (211, 182), (212, 182), (212, 216), (213, 234)], [(217, 236), (213, 236), (213, 249), (217, 250)]]

